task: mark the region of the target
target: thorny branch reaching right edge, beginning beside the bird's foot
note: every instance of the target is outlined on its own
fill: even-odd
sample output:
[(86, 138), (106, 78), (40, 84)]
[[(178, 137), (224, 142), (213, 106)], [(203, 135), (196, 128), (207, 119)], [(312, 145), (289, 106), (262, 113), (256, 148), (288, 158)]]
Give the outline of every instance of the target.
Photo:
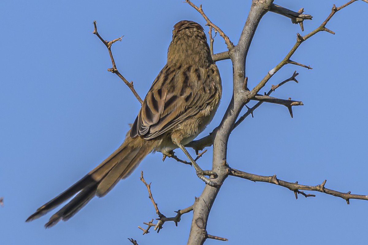
[(328, 188), (325, 188), (325, 184), (326, 184), (326, 180), (324, 180), (322, 182), (322, 184), (320, 185), (301, 185), (298, 184), (298, 182), (296, 183), (292, 183), (292, 182), (287, 182), (284, 180), (279, 180), (276, 178), (276, 174), (273, 176), (262, 176), (262, 175), (257, 175), (257, 174), (251, 174), (251, 173), (246, 173), (237, 169), (233, 169), (229, 167), (229, 175), (231, 176), (235, 176), (235, 177), (240, 177), (243, 179), (247, 179), (247, 180), (251, 180), (251, 181), (259, 181), (259, 182), (267, 182), (267, 183), (271, 183), (271, 184), (276, 184), (276, 185), (280, 185), (282, 187), (286, 187), (289, 190), (293, 191), (294, 193), (296, 193), (296, 198), (297, 194), (302, 194), (304, 195), (304, 197), (314, 197), (315, 195), (311, 195), (311, 194), (305, 194), (304, 192), (301, 192), (300, 190), (308, 190), (308, 191), (318, 191), (318, 192), (323, 192), (326, 193), (328, 195), (333, 195), (335, 197), (340, 197), (342, 199), (344, 199), (347, 204), (349, 204), (349, 199), (360, 199), (360, 200), (368, 200), (368, 195), (356, 195), (356, 194), (351, 194), (350, 191), (348, 192), (339, 192), (339, 191), (335, 191), (335, 190), (331, 190)]

